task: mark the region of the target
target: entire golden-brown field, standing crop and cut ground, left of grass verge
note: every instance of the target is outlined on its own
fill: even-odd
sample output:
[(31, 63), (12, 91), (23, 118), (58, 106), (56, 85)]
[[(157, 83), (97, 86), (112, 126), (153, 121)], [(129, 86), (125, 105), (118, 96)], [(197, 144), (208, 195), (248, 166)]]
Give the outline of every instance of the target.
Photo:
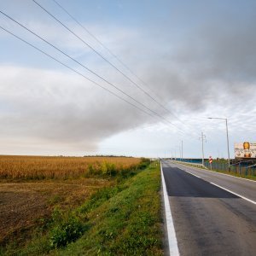
[(0, 155), (0, 254), (1, 244), (15, 240), (19, 245), (30, 239), (55, 208), (69, 212), (96, 191), (143, 169), (142, 160)]

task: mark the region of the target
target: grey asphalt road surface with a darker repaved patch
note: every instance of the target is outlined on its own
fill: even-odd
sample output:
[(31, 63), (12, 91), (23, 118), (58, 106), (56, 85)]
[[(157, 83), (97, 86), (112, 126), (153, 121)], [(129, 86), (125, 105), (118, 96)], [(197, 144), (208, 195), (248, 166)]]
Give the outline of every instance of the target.
[(256, 183), (170, 161), (162, 167), (180, 255), (256, 255), (256, 205), (210, 182), (250, 200)]

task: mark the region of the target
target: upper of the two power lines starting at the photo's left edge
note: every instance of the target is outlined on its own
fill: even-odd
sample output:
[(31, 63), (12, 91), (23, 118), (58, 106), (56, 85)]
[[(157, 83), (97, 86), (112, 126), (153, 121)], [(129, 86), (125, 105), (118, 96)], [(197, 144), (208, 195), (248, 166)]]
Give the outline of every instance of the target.
[[(81, 67), (84, 67), (86, 70), (88, 70), (90, 73), (93, 73), (94, 75), (96, 75), (96, 77), (102, 79), (104, 82), (108, 83), (109, 85), (113, 86), (113, 88), (115, 88), (116, 90), (119, 90), (121, 93), (123, 93), (125, 96), (131, 98), (131, 100), (133, 100), (134, 102), (137, 102), (137, 104), (143, 106), (143, 108), (146, 108), (148, 111), (150, 111), (151, 113), (154, 113), (154, 115), (158, 116), (160, 119), (164, 119), (167, 123), (169, 123), (170, 125), (173, 125), (168, 119), (166, 119), (165, 117), (163, 117), (162, 115), (160, 115), (159, 113), (155, 112), (154, 110), (148, 108), (147, 106), (145, 106), (143, 103), (138, 102), (135, 98), (133, 98), (132, 96), (130, 96), (129, 94), (127, 94), (124, 90), (119, 89), (116, 85), (108, 82), (107, 79), (102, 78), (102, 76), (98, 75), (97, 73), (93, 72), (92, 70), (90, 70), (90, 68), (85, 67), (82, 63), (80, 63), (79, 61), (77, 61), (76, 59), (74, 59), (72, 56), (67, 55), (63, 50), (57, 48), (54, 44), (49, 43), (49, 41), (47, 41), (46, 39), (40, 37), (36, 32), (32, 32), (31, 29), (27, 28), (26, 26), (22, 25), (19, 21), (13, 19), (12, 17), (10, 17), (9, 15), (3, 13), (3, 11), (0, 10), (0, 13), (4, 16), (6, 16), (7, 18), (9, 18), (9, 20), (14, 21), (16, 24), (18, 24), (19, 26), (23, 27), (24, 29), (26, 29), (26, 31), (31, 32), (34, 36), (36, 36), (37, 38), (40, 38), (41, 40), (44, 41), (44, 43), (49, 44), (51, 47), (53, 47), (54, 49), (58, 50), (59, 52), (61, 52), (61, 54), (66, 55), (69, 59), (75, 61), (76, 63), (78, 63)], [(175, 126), (178, 130), (182, 131), (179, 127)]]

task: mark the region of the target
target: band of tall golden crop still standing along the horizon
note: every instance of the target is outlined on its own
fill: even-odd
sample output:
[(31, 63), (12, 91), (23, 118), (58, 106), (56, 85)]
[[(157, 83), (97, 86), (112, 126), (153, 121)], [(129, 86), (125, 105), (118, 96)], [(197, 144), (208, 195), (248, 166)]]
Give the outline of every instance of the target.
[(139, 158), (0, 155), (0, 178), (48, 179), (112, 176), (136, 168)]

